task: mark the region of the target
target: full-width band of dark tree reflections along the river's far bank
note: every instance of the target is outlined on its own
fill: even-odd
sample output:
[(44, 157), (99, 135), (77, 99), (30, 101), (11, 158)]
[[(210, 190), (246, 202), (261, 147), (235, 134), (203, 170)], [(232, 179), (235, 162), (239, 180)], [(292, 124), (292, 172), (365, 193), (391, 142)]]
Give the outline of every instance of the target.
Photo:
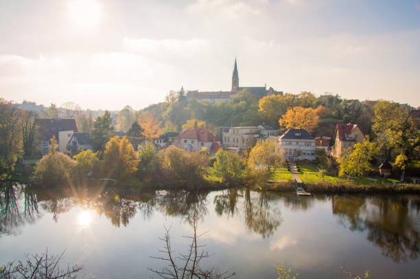
[[(366, 239), (395, 262), (419, 257), (420, 197), (415, 195), (314, 195), (299, 198), (293, 193), (251, 192), (229, 189), (211, 195), (209, 191), (143, 191), (110, 187), (80, 187), (69, 191), (35, 189), (13, 182), (0, 183), (0, 235), (18, 234), (25, 223), (39, 219), (39, 208), (58, 222), (74, 206), (83, 208), (78, 226), (89, 226), (93, 215), (110, 219), (114, 226), (129, 226), (137, 214), (150, 219), (154, 213), (178, 217), (191, 223), (191, 213), (205, 220), (209, 210), (218, 216), (241, 219), (249, 230), (263, 239), (281, 226), (280, 208), (294, 212), (318, 204), (332, 205), (340, 226), (366, 232)], [(214, 208), (213, 208), (214, 206)], [(226, 223), (229, 226), (229, 223)], [(287, 239), (286, 239), (287, 240)], [(277, 245), (282, 246), (283, 243)]]

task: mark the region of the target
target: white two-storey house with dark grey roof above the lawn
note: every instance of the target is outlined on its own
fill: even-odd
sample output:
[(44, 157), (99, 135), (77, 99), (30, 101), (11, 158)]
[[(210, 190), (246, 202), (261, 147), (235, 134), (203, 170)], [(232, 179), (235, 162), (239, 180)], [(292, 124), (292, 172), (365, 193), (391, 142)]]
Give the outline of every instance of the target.
[(315, 160), (315, 138), (303, 129), (289, 129), (278, 137), (276, 153), (295, 160)]

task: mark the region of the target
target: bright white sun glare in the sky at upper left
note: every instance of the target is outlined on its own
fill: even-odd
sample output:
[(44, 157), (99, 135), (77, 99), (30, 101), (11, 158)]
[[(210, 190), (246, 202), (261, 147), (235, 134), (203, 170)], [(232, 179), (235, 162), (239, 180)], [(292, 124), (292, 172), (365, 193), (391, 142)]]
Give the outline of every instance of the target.
[(67, 12), (73, 27), (86, 29), (99, 24), (101, 7), (96, 0), (69, 0)]

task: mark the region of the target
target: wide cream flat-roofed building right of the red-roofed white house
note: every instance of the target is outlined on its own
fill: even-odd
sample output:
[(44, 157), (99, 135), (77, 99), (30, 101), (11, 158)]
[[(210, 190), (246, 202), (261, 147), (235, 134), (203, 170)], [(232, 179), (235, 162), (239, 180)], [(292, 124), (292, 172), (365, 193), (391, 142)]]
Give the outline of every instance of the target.
[(258, 137), (259, 130), (255, 126), (231, 127), (229, 132), (222, 133), (222, 146), (246, 149), (248, 146), (253, 146)]

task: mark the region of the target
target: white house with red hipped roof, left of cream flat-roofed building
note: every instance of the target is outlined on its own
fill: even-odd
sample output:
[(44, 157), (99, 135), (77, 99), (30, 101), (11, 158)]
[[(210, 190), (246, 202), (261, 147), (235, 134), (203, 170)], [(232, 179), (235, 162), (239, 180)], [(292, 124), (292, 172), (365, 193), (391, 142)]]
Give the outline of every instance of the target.
[(213, 154), (220, 148), (220, 141), (206, 128), (194, 128), (178, 134), (175, 146), (190, 152), (198, 152), (206, 147)]

